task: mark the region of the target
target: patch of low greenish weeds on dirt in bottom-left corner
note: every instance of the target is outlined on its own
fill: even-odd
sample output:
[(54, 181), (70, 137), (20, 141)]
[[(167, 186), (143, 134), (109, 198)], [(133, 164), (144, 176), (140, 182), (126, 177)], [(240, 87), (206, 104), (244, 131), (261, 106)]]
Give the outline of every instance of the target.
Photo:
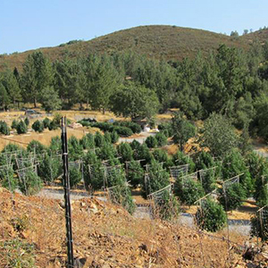
[(35, 247), (21, 239), (0, 242), (0, 259), (2, 267), (34, 268)]

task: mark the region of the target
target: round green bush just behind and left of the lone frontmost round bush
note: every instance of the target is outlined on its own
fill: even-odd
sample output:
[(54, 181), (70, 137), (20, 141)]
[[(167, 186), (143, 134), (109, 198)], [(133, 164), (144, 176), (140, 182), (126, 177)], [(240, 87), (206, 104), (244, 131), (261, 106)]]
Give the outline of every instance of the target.
[(199, 198), (205, 196), (201, 183), (190, 178), (184, 180), (179, 178), (175, 183), (174, 192), (181, 203), (186, 205), (194, 205)]

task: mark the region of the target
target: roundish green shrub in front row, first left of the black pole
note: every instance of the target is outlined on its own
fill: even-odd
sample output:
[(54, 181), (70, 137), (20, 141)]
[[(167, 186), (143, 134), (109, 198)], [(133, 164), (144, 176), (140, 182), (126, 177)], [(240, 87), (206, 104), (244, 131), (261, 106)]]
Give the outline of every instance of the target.
[(27, 169), (23, 179), (19, 180), (19, 188), (23, 195), (33, 196), (42, 188), (42, 180), (36, 172)]

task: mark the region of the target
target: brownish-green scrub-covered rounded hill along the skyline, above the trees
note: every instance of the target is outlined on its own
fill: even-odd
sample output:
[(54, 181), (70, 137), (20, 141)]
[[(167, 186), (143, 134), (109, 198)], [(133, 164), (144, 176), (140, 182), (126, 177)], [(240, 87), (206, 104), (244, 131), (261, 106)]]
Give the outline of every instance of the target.
[[(253, 36), (250, 34), (248, 36)], [(71, 45), (44, 47), (40, 50), (52, 61), (64, 56), (74, 57), (79, 54), (108, 53), (133, 50), (138, 54), (147, 54), (149, 57), (163, 58), (165, 60), (194, 57), (198, 51), (207, 54), (211, 49), (216, 49), (220, 44), (236, 47), (248, 47), (247, 38), (231, 38), (203, 29), (189, 29), (175, 26), (140, 26), (123, 29), (103, 37), (89, 41), (80, 41)], [(21, 64), (28, 54), (15, 53), (0, 56), (0, 71), (5, 68), (21, 69)]]

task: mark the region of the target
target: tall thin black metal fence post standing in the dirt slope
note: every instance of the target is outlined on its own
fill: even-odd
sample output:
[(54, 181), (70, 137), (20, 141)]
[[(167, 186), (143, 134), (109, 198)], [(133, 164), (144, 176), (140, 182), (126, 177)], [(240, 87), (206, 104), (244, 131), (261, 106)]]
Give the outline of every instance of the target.
[(66, 130), (66, 117), (62, 118), (62, 148), (63, 148), (63, 188), (65, 200), (65, 220), (66, 220), (66, 239), (67, 239), (67, 268), (74, 267), (72, 232), (71, 232), (71, 202), (70, 202), (70, 179), (68, 164), (68, 143)]

